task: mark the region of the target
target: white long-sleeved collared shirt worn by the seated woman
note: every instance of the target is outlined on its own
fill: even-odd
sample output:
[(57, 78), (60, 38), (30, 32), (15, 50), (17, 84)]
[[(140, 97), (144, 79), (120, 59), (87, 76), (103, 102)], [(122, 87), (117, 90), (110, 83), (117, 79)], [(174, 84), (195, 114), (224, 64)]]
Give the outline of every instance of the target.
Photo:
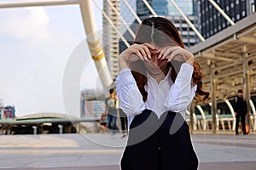
[(128, 68), (120, 71), (116, 79), (116, 91), (119, 103), (128, 117), (130, 127), (135, 116), (145, 109), (154, 111), (160, 117), (165, 111), (173, 111), (185, 116), (186, 109), (195, 97), (196, 86), (191, 86), (193, 66), (183, 63), (175, 82), (170, 78), (170, 72), (158, 84), (153, 77), (148, 76), (148, 99), (143, 102), (143, 96), (137, 88), (136, 81)]

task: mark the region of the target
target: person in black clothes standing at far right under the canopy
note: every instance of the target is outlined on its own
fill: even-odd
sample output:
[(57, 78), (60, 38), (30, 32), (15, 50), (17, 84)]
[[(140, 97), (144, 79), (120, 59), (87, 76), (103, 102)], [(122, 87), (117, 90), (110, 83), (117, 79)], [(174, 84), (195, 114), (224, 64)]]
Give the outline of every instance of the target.
[(234, 111), (236, 116), (236, 135), (238, 135), (239, 122), (241, 121), (241, 130), (243, 134), (247, 134), (245, 117), (247, 115), (247, 102), (243, 99), (242, 90), (237, 91), (237, 95), (234, 101)]

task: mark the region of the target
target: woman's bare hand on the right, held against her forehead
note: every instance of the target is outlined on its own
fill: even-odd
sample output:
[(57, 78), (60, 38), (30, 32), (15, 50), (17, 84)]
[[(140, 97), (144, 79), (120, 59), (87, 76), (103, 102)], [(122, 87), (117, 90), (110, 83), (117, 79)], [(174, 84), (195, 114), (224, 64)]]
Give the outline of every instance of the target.
[(159, 51), (160, 54), (158, 59), (168, 59), (168, 61), (174, 59), (180, 62), (188, 63), (189, 65), (193, 65), (194, 63), (194, 55), (188, 50), (179, 46), (166, 46), (164, 48), (160, 48)]

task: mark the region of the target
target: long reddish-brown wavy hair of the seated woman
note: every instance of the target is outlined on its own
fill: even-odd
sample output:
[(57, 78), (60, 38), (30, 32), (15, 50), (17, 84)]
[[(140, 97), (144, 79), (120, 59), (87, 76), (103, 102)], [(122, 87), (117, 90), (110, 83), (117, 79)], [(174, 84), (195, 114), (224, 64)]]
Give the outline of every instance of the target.
[[(180, 37), (177, 28), (170, 20), (163, 17), (150, 17), (143, 20), (142, 24), (138, 27), (134, 43), (142, 44), (145, 42), (154, 42), (154, 45), (158, 47), (177, 45), (184, 48), (183, 40)], [(172, 59), (168, 65), (170, 68), (172, 67), (170, 77), (172, 82), (175, 82), (177, 72), (180, 70), (182, 63)], [(201, 66), (196, 61), (194, 61), (193, 66), (192, 82), (193, 84), (197, 84), (195, 99), (204, 102), (208, 99), (209, 93), (202, 90)], [(131, 73), (137, 82), (137, 87), (143, 95), (143, 101), (145, 102), (148, 98), (148, 93), (145, 90), (148, 81), (143, 60), (139, 59), (136, 62), (131, 63)]]

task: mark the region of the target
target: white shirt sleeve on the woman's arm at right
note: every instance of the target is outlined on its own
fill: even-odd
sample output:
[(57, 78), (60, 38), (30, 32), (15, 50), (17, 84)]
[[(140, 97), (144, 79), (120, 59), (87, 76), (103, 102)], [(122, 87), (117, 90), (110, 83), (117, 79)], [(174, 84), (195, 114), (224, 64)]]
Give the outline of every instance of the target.
[(181, 66), (164, 105), (167, 111), (185, 111), (195, 97), (197, 86), (191, 86), (193, 70), (194, 67), (187, 63), (183, 63)]

